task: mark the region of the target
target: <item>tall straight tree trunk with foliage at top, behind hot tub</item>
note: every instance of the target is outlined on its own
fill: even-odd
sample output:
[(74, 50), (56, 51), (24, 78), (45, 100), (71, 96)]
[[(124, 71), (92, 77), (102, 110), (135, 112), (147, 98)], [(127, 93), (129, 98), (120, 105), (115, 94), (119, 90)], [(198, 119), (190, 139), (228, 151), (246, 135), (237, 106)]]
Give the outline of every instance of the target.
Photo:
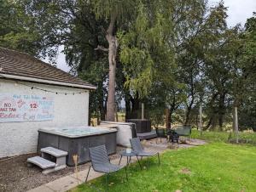
[[(105, 17), (108, 20), (108, 28), (103, 29), (105, 31), (105, 37), (108, 41), (108, 48), (103, 48), (102, 45), (98, 45), (96, 49), (102, 51), (108, 51), (108, 102), (107, 102), (107, 121), (114, 121), (115, 113), (115, 76), (117, 65), (117, 54), (119, 42), (116, 37), (116, 31), (121, 27), (121, 22), (127, 20), (127, 16), (132, 14), (134, 10), (133, 1), (117, 1), (117, 0), (96, 0), (92, 2), (94, 12), (98, 18)], [(119, 21), (119, 22), (117, 22)]]

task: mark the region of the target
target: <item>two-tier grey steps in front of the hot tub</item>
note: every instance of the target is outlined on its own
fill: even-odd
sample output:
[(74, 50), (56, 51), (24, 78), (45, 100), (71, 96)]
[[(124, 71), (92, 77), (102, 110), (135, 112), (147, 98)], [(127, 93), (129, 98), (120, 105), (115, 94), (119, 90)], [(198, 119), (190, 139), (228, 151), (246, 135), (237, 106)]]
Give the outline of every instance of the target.
[[(58, 150), (53, 147), (46, 147), (41, 149), (41, 155), (42, 156), (33, 156), (28, 158), (27, 165), (29, 167), (32, 165), (41, 167), (44, 170), (44, 174), (48, 174), (49, 172), (56, 172), (67, 167), (67, 151)], [(56, 161), (50, 161), (50, 159), (52, 159), (51, 157), (55, 157)]]

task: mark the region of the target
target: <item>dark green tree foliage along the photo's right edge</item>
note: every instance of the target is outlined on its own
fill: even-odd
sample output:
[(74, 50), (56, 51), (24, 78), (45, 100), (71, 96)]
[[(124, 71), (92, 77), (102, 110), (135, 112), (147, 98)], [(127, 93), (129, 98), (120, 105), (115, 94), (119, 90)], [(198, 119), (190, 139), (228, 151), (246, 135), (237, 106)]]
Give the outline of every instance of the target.
[(241, 129), (252, 127), (256, 131), (256, 14), (247, 19), (246, 30), (241, 35), (243, 42), (239, 65), (242, 69), (242, 82), (239, 94), (241, 105), (239, 108), (239, 123)]

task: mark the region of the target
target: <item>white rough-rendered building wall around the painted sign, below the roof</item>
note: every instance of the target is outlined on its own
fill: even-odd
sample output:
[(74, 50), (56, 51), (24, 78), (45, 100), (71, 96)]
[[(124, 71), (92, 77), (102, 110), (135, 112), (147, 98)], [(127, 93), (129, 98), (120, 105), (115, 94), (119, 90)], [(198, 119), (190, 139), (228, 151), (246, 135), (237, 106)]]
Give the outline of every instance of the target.
[[(22, 82), (26, 85), (53, 92), (84, 92), (84, 89), (65, 88), (39, 83)], [(0, 79), (0, 93), (34, 94), (54, 97), (54, 119), (52, 121), (0, 122), (0, 158), (36, 152), (38, 129), (41, 127), (61, 127), (88, 125), (89, 91), (77, 94), (46, 93), (31, 89), (20, 83)]]

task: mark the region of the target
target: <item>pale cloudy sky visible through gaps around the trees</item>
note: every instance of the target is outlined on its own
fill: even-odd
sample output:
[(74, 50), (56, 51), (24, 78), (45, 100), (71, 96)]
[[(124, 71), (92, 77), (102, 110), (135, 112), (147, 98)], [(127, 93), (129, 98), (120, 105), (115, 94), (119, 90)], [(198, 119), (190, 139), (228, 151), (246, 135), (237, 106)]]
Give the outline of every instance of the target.
[[(209, 5), (211, 6), (216, 3), (218, 3), (217, 0), (209, 0)], [(256, 12), (256, 0), (224, 0), (224, 6), (228, 7), (227, 24), (230, 27), (238, 23), (243, 26), (247, 18), (253, 16), (253, 11)], [(67, 66), (65, 54), (62, 54), (61, 50), (63, 50), (62, 46), (59, 49), (59, 55), (56, 59), (57, 67), (62, 71), (68, 72), (70, 67)]]

